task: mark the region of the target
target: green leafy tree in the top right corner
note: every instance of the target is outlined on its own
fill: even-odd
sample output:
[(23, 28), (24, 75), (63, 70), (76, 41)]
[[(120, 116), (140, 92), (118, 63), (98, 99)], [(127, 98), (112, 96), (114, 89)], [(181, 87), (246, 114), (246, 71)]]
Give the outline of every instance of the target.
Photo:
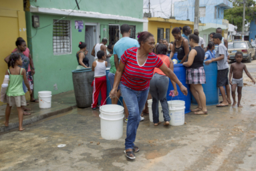
[[(253, 15), (256, 14), (255, 1), (246, 0), (245, 5), (245, 25), (251, 23)], [(224, 11), (224, 19), (237, 26), (237, 31), (242, 31), (243, 27), (243, 0), (234, 0), (233, 8)]]

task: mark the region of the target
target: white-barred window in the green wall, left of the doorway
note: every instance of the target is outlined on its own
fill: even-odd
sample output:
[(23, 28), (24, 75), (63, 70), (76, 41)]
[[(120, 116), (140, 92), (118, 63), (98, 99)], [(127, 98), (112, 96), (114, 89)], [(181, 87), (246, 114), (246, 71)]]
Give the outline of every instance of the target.
[(71, 53), (70, 21), (53, 19), (53, 54)]

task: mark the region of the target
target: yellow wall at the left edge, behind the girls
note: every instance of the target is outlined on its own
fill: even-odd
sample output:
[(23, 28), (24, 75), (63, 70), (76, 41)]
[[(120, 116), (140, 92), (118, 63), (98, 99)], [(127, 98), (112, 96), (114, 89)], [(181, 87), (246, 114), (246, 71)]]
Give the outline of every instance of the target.
[[(17, 37), (23, 37), (27, 42), (25, 12), (23, 0), (0, 0), (0, 85), (3, 83), (7, 64), (3, 61), (15, 49)], [(29, 94), (26, 94), (29, 99)], [(2, 105), (3, 102), (0, 102)]]

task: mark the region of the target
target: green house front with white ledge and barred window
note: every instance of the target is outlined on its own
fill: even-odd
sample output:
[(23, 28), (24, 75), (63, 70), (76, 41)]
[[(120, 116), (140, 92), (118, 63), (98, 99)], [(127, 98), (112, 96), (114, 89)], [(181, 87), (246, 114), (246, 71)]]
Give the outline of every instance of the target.
[(78, 3), (80, 9), (73, 0), (29, 1), (26, 21), (36, 72), (35, 94), (41, 90), (58, 94), (74, 89), (72, 71), (78, 66), (76, 53), (80, 41), (87, 43), (87, 57), (92, 66), (94, 57), (90, 54), (94, 45), (103, 38), (114, 45), (122, 38), (122, 24), (130, 25), (134, 39), (136, 33), (143, 31), (142, 0), (129, 3), (78, 0)]

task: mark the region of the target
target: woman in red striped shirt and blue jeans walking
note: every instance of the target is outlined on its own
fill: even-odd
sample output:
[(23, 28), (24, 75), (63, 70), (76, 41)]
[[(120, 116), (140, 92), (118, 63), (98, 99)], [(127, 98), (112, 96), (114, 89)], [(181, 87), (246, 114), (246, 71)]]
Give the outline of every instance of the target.
[(124, 102), (129, 111), (128, 123), (126, 128), (125, 154), (127, 158), (134, 159), (134, 152), (140, 149), (134, 145), (140, 114), (148, 96), (149, 81), (152, 79), (154, 68), (158, 67), (165, 75), (180, 86), (181, 92), (187, 94), (186, 87), (178, 81), (176, 75), (162, 65), (162, 60), (152, 53), (154, 49), (154, 36), (144, 31), (140, 33), (138, 42), (140, 47), (133, 47), (124, 52), (121, 62), (116, 70), (114, 86), (110, 92), (110, 97), (117, 94), (118, 85)]

